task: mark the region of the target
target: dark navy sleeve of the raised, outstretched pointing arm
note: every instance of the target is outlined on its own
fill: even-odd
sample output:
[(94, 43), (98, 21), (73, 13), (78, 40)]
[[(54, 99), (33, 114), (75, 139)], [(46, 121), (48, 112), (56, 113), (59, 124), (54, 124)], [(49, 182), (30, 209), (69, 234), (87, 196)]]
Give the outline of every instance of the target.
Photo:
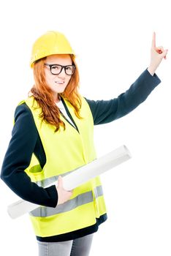
[(94, 117), (94, 124), (106, 124), (125, 116), (144, 102), (160, 82), (156, 74), (152, 76), (145, 69), (132, 86), (118, 98), (97, 101), (86, 99)]

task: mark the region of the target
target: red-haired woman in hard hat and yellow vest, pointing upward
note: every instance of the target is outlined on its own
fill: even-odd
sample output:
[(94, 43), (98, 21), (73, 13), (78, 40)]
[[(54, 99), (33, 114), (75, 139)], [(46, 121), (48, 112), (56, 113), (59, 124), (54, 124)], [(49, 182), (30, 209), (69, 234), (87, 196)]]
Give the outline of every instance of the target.
[[(137, 108), (160, 83), (155, 71), (167, 50), (156, 48), (151, 64), (124, 94), (93, 101), (79, 94), (79, 74), (68, 40), (48, 31), (34, 43), (34, 86), (15, 110), (12, 139), (1, 178), (20, 197), (40, 207), (30, 217), (39, 256), (86, 256), (93, 233), (107, 219), (99, 177), (66, 191), (61, 176), (96, 158), (93, 129)], [(58, 185), (47, 187), (58, 179)]]

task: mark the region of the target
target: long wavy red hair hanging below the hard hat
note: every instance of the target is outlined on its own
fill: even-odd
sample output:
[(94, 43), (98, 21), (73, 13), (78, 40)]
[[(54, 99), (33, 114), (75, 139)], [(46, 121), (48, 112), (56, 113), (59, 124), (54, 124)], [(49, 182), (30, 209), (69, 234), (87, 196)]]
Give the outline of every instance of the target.
[[(78, 92), (80, 86), (79, 72), (75, 62), (75, 56), (70, 55), (70, 57), (72, 59), (72, 64), (75, 64), (76, 67), (75, 73), (69, 80), (64, 92), (59, 95), (70, 102), (75, 109), (77, 118), (82, 118), (80, 116), (81, 99)], [(42, 110), (39, 115), (39, 117), (42, 118), (42, 121), (55, 126), (55, 132), (57, 132), (60, 126), (65, 129), (65, 124), (60, 119), (60, 112), (53, 100), (52, 91), (50, 91), (50, 88), (45, 81), (45, 59), (46, 57), (39, 59), (34, 63), (34, 86), (29, 91), (28, 96), (32, 95), (34, 99), (36, 99), (38, 108), (41, 108)]]

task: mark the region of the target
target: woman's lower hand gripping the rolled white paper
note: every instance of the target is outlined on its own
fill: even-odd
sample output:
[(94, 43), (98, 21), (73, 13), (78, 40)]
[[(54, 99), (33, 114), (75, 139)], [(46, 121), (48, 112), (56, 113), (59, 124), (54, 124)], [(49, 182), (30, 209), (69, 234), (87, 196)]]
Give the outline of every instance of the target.
[(72, 191), (66, 191), (64, 189), (61, 176), (58, 177), (58, 186), (56, 186), (56, 189), (58, 191), (58, 204), (57, 205), (65, 203), (72, 196)]

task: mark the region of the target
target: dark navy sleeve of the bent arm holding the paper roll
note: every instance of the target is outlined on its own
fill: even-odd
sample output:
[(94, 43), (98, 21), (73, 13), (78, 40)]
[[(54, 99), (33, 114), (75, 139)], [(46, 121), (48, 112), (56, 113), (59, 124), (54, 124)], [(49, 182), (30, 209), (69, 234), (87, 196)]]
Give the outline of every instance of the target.
[[(37, 144), (37, 138), (38, 132), (30, 110), (24, 105), (19, 106), (15, 111), (15, 126), (1, 167), (1, 179), (24, 200), (55, 207), (58, 201), (56, 187), (39, 187), (31, 182), (31, 178), (25, 172), (35, 148), (40, 146)], [(44, 164), (45, 159), (39, 163), (40, 168)]]

